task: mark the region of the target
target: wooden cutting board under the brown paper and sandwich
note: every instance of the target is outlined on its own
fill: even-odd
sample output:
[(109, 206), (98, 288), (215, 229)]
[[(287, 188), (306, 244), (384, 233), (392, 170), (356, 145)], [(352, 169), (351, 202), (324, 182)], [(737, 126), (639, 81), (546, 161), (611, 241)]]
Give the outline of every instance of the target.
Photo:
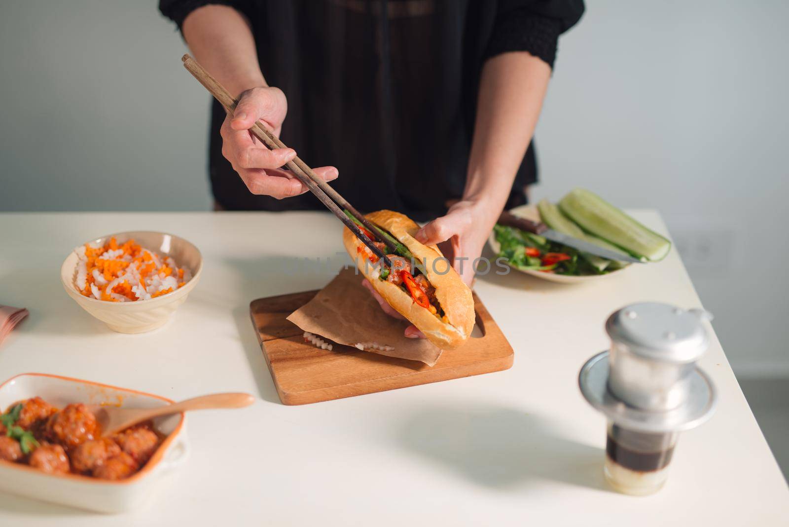
[(432, 368), (351, 346), (335, 344), (329, 351), (305, 342), (304, 331), (286, 317), (316, 293), (317, 290), (258, 298), (249, 305), (252, 324), (283, 404), (330, 401), (499, 372), (512, 366), (512, 346), (476, 293), (477, 327), (472, 336), (460, 348), (443, 352)]

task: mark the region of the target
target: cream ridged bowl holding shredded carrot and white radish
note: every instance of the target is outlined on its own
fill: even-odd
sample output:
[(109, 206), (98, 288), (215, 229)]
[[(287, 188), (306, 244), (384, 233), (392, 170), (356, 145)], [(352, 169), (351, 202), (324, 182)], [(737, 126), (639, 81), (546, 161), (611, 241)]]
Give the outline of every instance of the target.
[(181, 267), (187, 267), (192, 271), (192, 279), (184, 286), (179, 287), (172, 293), (167, 293), (161, 297), (151, 298), (150, 300), (136, 302), (110, 302), (96, 300), (95, 298), (85, 297), (75, 284), (77, 278), (77, 249), (65, 259), (60, 269), (60, 278), (63, 282), (65, 292), (69, 293), (80, 308), (89, 312), (92, 316), (107, 324), (113, 331), (119, 333), (143, 333), (163, 326), (170, 316), (175, 312), (179, 305), (183, 304), (186, 297), (197, 285), (200, 279), (200, 271), (203, 270), (203, 256), (200, 251), (189, 241), (175, 236), (174, 234), (157, 233), (147, 230), (129, 231), (125, 233), (108, 234), (105, 237), (90, 240), (88, 243), (95, 242), (103, 245), (110, 237), (115, 237), (119, 244), (134, 238), (145, 249), (159, 252), (166, 256), (172, 256)]

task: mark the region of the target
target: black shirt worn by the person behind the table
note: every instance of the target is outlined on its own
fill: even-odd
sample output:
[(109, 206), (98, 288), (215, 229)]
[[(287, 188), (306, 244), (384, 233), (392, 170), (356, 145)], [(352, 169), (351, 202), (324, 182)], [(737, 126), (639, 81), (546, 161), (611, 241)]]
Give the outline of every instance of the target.
[[(559, 34), (582, 0), (160, 0), (179, 27), (200, 6), (222, 4), (252, 24), (260, 69), (288, 99), (282, 141), (310, 166), (333, 165), (331, 185), (362, 211), (414, 219), (443, 215), (460, 198), (484, 61), (525, 50), (553, 65)], [(229, 210), (323, 209), (307, 192), (255, 196), (222, 157), (225, 112), (211, 110), (209, 170)], [(508, 207), (537, 181), (533, 144)]]

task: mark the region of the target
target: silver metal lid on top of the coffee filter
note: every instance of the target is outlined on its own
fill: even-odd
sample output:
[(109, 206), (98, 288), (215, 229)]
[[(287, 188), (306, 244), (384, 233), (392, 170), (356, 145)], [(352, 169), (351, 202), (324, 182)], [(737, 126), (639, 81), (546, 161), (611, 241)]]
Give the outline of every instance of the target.
[(682, 309), (657, 302), (632, 304), (608, 318), (605, 329), (614, 342), (641, 357), (686, 363), (704, 354), (709, 339), (701, 320), (712, 316), (703, 309)]

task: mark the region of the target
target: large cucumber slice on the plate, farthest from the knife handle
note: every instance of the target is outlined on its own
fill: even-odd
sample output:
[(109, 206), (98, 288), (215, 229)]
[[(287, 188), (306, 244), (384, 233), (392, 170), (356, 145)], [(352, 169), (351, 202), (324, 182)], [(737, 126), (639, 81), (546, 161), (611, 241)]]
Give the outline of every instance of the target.
[(573, 189), (559, 201), (559, 209), (581, 228), (634, 256), (656, 262), (671, 251), (671, 241), (647, 229), (594, 192)]

